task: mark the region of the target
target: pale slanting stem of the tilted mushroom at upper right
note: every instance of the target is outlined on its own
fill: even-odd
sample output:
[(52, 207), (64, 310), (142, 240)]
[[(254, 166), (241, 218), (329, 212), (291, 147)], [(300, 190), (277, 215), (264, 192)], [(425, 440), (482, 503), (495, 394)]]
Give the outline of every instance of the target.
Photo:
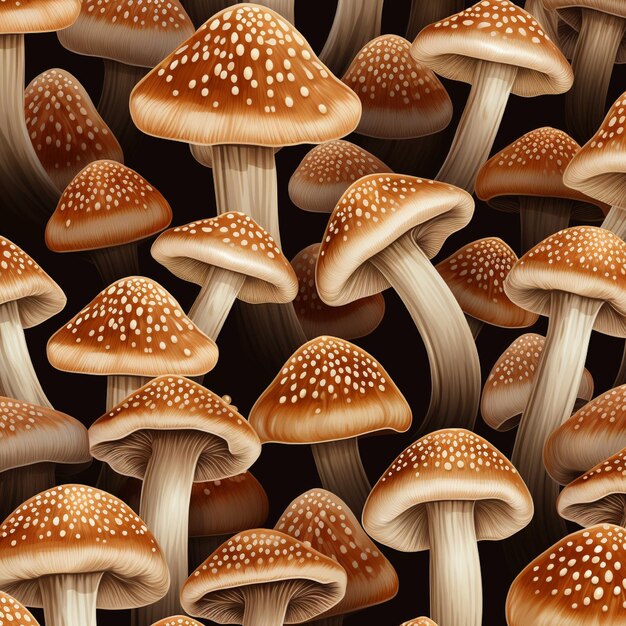
[(489, 157), (516, 76), (517, 68), (512, 65), (482, 61), (476, 66), (472, 90), (437, 180), (474, 191), (478, 170)]

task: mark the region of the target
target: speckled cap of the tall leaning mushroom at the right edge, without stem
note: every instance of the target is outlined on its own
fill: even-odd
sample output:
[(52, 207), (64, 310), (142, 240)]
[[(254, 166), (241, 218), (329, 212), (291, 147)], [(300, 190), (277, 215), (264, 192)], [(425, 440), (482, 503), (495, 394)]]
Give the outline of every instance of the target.
[(504, 290), (546, 316), (555, 291), (600, 300), (595, 330), (626, 337), (626, 243), (603, 228), (577, 226), (546, 237), (514, 265)]

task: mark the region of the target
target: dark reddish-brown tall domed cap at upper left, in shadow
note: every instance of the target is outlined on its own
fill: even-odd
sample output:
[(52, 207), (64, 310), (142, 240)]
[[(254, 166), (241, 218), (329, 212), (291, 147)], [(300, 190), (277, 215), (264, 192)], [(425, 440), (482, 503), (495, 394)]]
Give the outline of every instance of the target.
[(60, 69), (33, 78), (24, 92), (30, 141), (41, 165), (62, 191), (85, 165), (124, 162), (124, 153), (78, 79)]

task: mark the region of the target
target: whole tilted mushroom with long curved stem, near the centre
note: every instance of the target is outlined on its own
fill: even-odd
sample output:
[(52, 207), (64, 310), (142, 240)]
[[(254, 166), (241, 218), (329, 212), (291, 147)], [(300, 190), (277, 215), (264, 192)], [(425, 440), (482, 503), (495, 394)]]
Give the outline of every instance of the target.
[(478, 411), (476, 344), (430, 262), (446, 238), (467, 225), (473, 210), (469, 194), (445, 183), (400, 174), (365, 176), (337, 204), (317, 261), (317, 290), (326, 304), (344, 305), (390, 286), (402, 299), (430, 362), (424, 432), (470, 427)]

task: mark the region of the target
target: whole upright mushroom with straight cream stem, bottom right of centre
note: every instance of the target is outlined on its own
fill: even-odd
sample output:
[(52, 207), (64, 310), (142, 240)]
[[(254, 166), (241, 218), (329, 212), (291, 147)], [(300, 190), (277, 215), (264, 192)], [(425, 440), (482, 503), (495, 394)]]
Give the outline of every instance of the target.
[(524, 528), (533, 501), (511, 462), (464, 429), (410, 445), (369, 495), (363, 527), (403, 552), (430, 550), (430, 611), (440, 624), (482, 624), (478, 541)]

